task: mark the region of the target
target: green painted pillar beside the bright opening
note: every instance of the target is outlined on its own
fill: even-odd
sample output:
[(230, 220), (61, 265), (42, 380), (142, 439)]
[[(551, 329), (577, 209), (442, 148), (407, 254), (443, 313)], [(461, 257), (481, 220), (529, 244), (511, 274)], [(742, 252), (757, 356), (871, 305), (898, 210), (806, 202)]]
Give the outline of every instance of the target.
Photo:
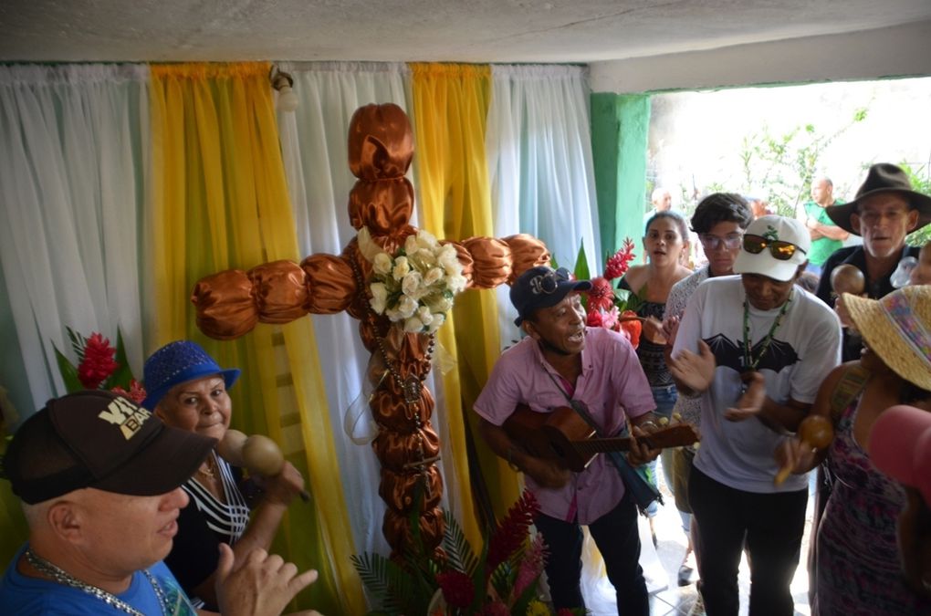
[(595, 193), (601, 246), (606, 252), (620, 248), (625, 237), (639, 243), (643, 235), (649, 127), (648, 94), (591, 95)]

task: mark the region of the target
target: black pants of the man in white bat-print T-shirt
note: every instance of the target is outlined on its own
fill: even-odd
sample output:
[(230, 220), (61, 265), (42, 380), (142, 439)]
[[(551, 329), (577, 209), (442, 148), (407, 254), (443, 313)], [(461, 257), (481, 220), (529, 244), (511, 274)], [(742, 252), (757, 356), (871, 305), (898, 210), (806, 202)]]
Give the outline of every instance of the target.
[(708, 616), (736, 616), (745, 540), (751, 616), (791, 616), (789, 584), (799, 565), (808, 489), (756, 493), (728, 488), (692, 467), (689, 502), (698, 523), (701, 594)]

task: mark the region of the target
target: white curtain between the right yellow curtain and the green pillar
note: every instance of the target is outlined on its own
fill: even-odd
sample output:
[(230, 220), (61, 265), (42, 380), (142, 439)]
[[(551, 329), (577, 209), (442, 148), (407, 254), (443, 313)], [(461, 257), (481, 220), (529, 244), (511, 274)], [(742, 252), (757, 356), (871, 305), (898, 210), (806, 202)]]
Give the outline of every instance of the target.
[[(600, 269), (587, 69), (492, 65), (486, 152), (494, 233), (527, 233), (572, 269), (580, 244)], [(517, 340), (517, 316), (498, 288), (502, 342)]]

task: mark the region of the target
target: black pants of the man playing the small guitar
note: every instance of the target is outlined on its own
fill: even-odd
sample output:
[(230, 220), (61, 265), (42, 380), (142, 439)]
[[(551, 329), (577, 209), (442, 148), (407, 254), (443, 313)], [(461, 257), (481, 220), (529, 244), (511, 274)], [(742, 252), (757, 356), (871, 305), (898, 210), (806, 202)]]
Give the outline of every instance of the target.
[[(582, 528), (575, 522), (564, 522), (540, 514), (536, 529), (549, 546), (546, 578), (550, 595), (557, 609), (583, 608), (582, 589)], [(624, 495), (621, 502), (604, 516), (588, 525), (592, 539), (604, 558), (608, 580), (617, 593), (619, 614), (649, 616), (650, 597), (640, 566), (640, 533), (637, 529), (637, 507)]]

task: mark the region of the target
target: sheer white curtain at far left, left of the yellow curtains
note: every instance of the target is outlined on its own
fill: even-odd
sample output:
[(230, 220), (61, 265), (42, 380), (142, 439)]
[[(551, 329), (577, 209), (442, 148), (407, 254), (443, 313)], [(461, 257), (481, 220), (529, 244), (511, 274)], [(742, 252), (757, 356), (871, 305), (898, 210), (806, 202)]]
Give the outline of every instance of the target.
[(36, 406), (64, 393), (65, 327), (114, 345), (119, 327), (141, 376), (147, 82), (143, 65), (0, 66), (0, 258)]

